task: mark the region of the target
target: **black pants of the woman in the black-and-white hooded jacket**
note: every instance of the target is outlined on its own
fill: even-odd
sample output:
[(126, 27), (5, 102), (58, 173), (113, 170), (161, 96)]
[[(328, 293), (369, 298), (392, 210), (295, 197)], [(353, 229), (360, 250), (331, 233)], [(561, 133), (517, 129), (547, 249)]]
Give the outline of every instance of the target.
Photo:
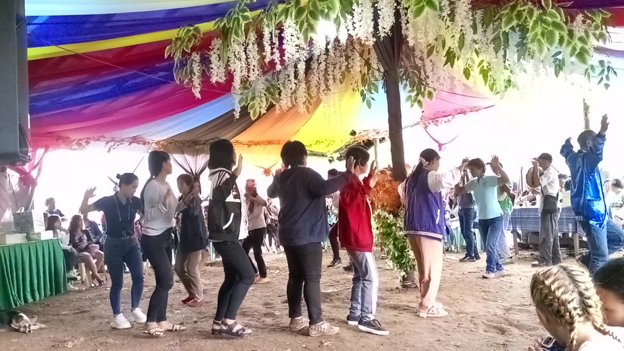
[(253, 284), (254, 274), (249, 256), (238, 242), (212, 242), (221, 255), (225, 279), (217, 296), (215, 320), (235, 320), (247, 291)]

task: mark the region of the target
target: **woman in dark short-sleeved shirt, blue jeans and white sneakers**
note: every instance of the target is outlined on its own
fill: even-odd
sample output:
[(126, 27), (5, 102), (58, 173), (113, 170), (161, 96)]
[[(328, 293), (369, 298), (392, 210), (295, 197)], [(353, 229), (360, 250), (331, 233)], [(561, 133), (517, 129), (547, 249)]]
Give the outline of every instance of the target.
[(114, 319), (114, 329), (129, 329), (130, 322), (121, 312), (121, 289), (124, 285), (124, 263), (130, 270), (132, 289), (130, 290), (130, 320), (145, 323), (147, 316), (139, 308), (143, 294), (143, 260), (137, 237), (134, 235), (134, 219), (141, 208), (141, 200), (134, 196), (139, 187), (139, 178), (132, 173), (117, 175), (119, 191), (112, 196), (102, 197), (89, 205), (89, 199), (95, 196), (95, 188), (88, 189), (82, 199), (80, 212), (87, 214), (92, 211), (104, 212), (106, 218), (106, 241), (104, 252), (106, 265), (109, 269), (110, 307)]

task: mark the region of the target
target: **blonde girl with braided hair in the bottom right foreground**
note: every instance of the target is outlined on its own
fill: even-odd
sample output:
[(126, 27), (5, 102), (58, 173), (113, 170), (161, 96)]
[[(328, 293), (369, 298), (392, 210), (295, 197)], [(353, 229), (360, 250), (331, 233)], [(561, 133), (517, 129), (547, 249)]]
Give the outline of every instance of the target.
[(624, 329), (605, 324), (602, 302), (584, 268), (560, 264), (539, 269), (530, 290), (540, 323), (566, 350), (624, 350)]

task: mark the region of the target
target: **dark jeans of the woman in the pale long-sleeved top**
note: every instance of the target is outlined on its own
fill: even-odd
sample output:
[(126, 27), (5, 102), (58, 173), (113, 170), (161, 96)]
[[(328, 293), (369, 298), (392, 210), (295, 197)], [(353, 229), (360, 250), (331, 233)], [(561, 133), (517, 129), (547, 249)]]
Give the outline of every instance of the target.
[(169, 290), (173, 287), (171, 233), (172, 229), (169, 228), (158, 235), (142, 235), (141, 237), (145, 255), (152, 265), (156, 278), (156, 287), (147, 308), (148, 323), (167, 320)]

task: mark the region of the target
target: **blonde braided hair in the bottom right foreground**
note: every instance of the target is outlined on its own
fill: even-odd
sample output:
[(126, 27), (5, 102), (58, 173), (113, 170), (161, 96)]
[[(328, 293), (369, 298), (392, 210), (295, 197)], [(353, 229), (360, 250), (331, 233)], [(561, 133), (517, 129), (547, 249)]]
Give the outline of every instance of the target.
[(576, 349), (577, 326), (583, 322), (621, 342), (605, 325), (602, 302), (585, 268), (570, 264), (544, 267), (533, 275), (530, 289), (535, 307), (568, 327), (568, 350)]

